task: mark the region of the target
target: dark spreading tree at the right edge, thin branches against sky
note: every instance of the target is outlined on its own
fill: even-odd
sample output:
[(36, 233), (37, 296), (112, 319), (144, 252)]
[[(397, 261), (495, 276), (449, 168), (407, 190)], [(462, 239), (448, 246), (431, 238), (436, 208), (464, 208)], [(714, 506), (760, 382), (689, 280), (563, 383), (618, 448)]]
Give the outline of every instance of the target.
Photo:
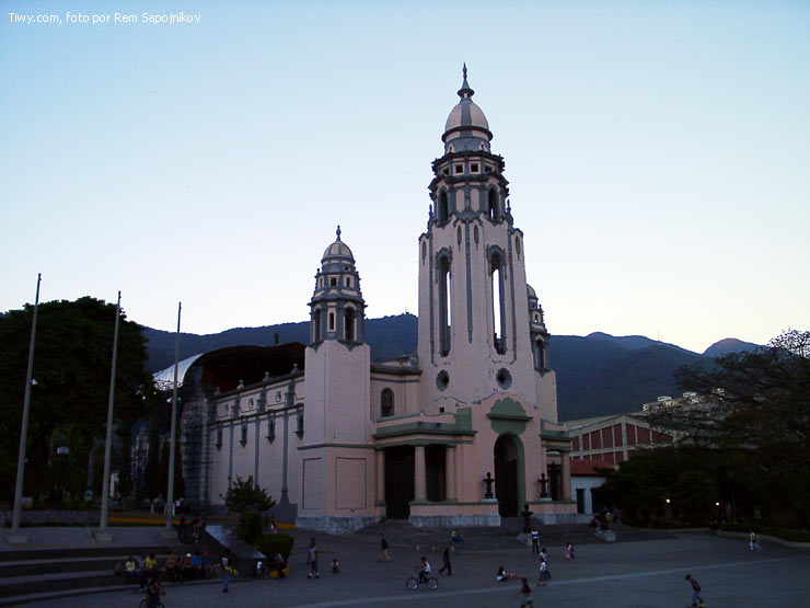
[(743, 483), (754, 494), (752, 512), (759, 507), (782, 525), (810, 525), (810, 332), (789, 330), (767, 346), (683, 367), (678, 379), (696, 393), (694, 402), (658, 408), (650, 424), (724, 458), (718, 474), (731, 491), (722, 495), (732, 517), (740, 514), (736, 490)]

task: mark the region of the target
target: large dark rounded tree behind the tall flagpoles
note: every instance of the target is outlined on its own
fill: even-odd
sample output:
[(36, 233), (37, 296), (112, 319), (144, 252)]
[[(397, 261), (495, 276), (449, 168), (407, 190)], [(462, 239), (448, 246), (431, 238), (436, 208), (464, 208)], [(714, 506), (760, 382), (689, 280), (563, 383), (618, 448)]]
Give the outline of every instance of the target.
[[(83, 490), (72, 483), (86, 475), (88, 455), (105, 435), (112, 365), (115, 305), (84, 297), (39, 305), (34, 378), (26, 448), (25, 495), (58, 504), (55, 490)], [(0, 318), (0, 500), (12, 500), (20, 443), (23, 392), (34, 307), (26, 305)], [(153, 402), (146, 371), (142, 328), (121, 311), (115, 385), (119, 435)], [(71, 487), (56, 487), (49, 474), (59, 441), (70, 440)], [(68, 446), (65, 446), (68, 447)], [(65, 466), (65, 464), (60, 464)]]

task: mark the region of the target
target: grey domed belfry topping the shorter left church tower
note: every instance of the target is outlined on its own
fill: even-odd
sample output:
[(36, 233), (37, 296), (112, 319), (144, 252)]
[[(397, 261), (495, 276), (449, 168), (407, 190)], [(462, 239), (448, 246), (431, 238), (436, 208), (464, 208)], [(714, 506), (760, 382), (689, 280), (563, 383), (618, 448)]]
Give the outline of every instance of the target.
[(326, 248), (315, 274), (315, 292), (310, 300), (310, 345), (324, 340), (360, 344), (366, 340), (366, 301), (360, 292), (360, 275), (351, 250), (340, 240)]

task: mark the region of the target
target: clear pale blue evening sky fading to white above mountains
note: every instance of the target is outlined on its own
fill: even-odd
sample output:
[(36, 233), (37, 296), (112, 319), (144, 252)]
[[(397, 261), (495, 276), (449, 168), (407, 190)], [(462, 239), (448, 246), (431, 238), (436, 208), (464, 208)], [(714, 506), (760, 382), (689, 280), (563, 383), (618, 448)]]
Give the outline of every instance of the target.
[(303, 321), (340, 225), (367, 316), (415, 313), (466, 62), (552, 334), (810, 326), (808, 2), (0, 9), (0, 310), (42, 273), (161, 330)]

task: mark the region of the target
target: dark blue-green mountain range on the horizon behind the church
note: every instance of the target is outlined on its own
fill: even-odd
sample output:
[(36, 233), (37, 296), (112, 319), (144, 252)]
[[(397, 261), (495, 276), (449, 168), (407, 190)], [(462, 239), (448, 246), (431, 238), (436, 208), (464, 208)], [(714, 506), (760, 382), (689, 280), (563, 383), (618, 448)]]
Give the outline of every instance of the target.
[[(174, 363), (175, 334), (144, 328), (149, 341), (149, 370)], [(217, 334), (181, 334), (180, 358), (236, 345), (269, 346), (286, 342), (306, 344), (309, 321), (262, 328), (235, 328)], [(398, 314), (366, 320), (366, 342), (372, 362), (392, 360), (416, 352), (417, 318)], [(710, 362), (756, 344), (727, 337), (704, 353), (641, 335), (613, 336), (594, 332), (586, 336), (554, 335), (548, 364), (557, 372), (560, 421), (635, 412), (659, 395), (679, 394), (674, 372), (682, 365)]]

